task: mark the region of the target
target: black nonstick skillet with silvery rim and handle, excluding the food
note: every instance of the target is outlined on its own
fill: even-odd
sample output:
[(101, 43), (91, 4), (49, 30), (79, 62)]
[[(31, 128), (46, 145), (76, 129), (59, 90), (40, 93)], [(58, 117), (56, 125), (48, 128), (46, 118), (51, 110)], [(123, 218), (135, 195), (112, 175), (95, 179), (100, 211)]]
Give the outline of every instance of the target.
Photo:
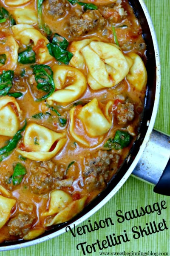
[[(160, 93), (160, 62), (156, 35), (153, 29), (150, 15), (148, 14), (147, 8), (143, 0), (130, 0), (129, 3), (133, 7), (133, 10), (142, 26), (144, 40), (147, 45), (146, 68), (147, 73), (149, 74), (147, 81), (147, 94), (144, 105), (144, 113), (138, 139), (133, 144), (129, 155), (121, 166), (119, 172), (108, 183), (107, 188), (103, 192), (101, 192), (100, 195), (91, 202), (91, 204), (85, 207), (85, 209), (79, 215), (77, 215), (75, 218), (73, 218), (71, 221), (68, 221), (67, 223), (53, 227), (51, 230), (44, 233), (38, 239), (27, 242), (17, 241), (1, 244), (1, 251), (13, 250), (20, 248), (21, 246), (26, 247), (40, 243), (42, 241), (46, 241), (64, 233), (65, 227), (67, 227), (68, 225), (71, 225), (72, 227), (73, 224), (80, 224), (82, 221), (84, 221), (86, 218), (89, 218), (92, 214), (94, 214), (94, 212), (100, 209), (106, 202), (108, 202), (113, 197), (113, 195), (121, 188), (121, 186), (125, 183), (125, 181), (132, 172), (134, 175), (146, 179), (147, 181), (154, 183), (155, 185), (157, 184), (154, 188), (155, 192), (159, 192), (164, 195), (170, 195), (170, 190), (168, 190), (166, 186), (168, 184), (168, 173), (170, 172), (170, 162), (168, 162), (170, 157), (170, 148), (168, 145), (169, 138), (165, 135), (157, 133), (156, 131), (153, 132), (153, 125), (158, 109)], [(149, 153), (150, 147), (153, 148), (153, 145), (156, 145), (156, 148), (159, 147), (161, 148), (161, 151), (165, 152), (163, 155), (160, 156), (161, 166), (159, 168), (157, 167), (157, 169), (152, 168), (153, 163), (150, 163), (151, 159), (149, 157)], [(158, 157), (156, 158), (158, 159)], [(158, 160), (158, 162), (160, 161)], [(142, 172), (148, 169), (150, 170), (150, 172), (146, 172), (147, 175), (146, 173), (144, 174), (144, 172)], [(156, 171), (156, 174), (153, 173), (152, 170)]]

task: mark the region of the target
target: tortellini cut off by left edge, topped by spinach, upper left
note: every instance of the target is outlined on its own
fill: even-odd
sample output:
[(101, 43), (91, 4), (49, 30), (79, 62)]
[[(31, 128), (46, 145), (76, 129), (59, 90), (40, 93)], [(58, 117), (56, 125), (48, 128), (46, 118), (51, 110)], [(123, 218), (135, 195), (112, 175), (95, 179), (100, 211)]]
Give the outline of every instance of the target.
[(0, 42), (0, 54), (6, 55), (6, 62), (4, 65), (0, 64), (0, 70), (14, 70), (18, 61), (18, 44), (12, 35), (4, 34), (4, 39), (5, 44), (3, 40)]

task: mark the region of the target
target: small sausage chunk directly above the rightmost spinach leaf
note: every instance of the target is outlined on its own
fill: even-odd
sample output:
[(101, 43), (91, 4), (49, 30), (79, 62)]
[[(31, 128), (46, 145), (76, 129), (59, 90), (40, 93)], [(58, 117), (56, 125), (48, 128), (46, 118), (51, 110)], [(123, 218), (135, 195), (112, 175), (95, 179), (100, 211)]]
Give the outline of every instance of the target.
[(134, 115), (134, 105), (130, 102), (119, 102), (114, 111), (114, 116), (116, 116), (118, 124), (126, 124), (128, 121), (133, 120)]

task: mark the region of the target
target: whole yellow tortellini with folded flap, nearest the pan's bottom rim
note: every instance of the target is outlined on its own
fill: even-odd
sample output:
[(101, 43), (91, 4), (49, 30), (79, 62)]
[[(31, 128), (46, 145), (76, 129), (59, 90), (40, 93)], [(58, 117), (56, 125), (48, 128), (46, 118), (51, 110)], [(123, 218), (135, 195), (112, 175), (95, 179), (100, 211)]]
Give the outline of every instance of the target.
[(71, 195), (62, 191), (54, 190), (50, 195), (50, 208), (44, 215), (54, 215), (51, 221), (46, 222), (45, 227), (69, 221), (85, 207), (87, 197), (73, 201)]

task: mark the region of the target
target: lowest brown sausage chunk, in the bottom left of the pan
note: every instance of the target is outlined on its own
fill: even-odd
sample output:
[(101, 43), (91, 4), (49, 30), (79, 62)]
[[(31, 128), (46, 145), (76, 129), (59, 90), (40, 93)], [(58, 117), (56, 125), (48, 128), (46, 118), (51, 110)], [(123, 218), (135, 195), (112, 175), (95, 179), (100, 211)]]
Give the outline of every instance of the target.
[(23, 237), (28, 233), (34, 222), (34, 216), (28, 213), (19, 213), (8, 222), (8, 232), (11, 236)]

